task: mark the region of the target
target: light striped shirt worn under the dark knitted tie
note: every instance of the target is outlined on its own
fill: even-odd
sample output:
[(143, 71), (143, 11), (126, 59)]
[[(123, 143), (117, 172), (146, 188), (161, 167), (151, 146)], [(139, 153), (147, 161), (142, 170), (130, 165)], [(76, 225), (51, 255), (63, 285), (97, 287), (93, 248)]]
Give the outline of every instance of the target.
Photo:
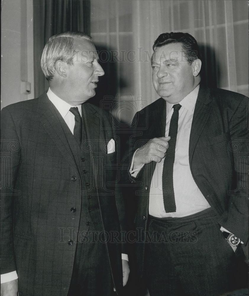
[[(177, 141), (175, 148), (175, 160), (173, 167), (173, 184), (176, 203), (176, 212), (166, 213), (164, 209), (162, 193), (162, 173), (164, 159), (156, 164), (153, 173), (149, 195), (149, 214), (158, 217), (184, 217), (193, 215), (210, 207), (192, 177), (189, 165), (189, 140), (193, 120), (195, 103), (197, 100), (199, 85), (191, 91), (179, 104)], [(165, 136), (169, 135), (169, 124), (174, 109), (173, 104), (166, 102), (166, 129)], [(170, 140), (169, 140), (170, 145)], [(167, 155), (167, 152), (166, 152)]]

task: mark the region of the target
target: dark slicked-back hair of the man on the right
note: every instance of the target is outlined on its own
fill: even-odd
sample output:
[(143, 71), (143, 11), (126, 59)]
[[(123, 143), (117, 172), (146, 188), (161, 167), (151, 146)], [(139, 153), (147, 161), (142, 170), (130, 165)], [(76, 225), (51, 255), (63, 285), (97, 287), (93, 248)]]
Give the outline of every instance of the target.
[(201, 59), (201, 52), (197, 41), (188, 33), (169, 32), (159, 35), (153, 44), (153, 51), (155, 51), (156, 47), (161, 47), (170, 43), (182, 44), (183, 52), (189, 64), (192, 64), (196, 59)]

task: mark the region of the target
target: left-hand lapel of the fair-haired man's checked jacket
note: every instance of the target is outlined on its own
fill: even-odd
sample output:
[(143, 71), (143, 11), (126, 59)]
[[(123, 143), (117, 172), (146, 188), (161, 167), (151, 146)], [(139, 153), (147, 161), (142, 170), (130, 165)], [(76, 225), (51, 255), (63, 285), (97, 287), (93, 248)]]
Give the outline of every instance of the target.
[(65, 161), (67, 161), (69, 165), (75, 167), (75, 159), (72, 155), (67, 137), (62, 128), (62, 123), (60, 122), (60, 119), (63, 120), (63, 118), (61, 117), (59, 111), (56, 109), (53, 103), (48, 99), (46, 93), (44, 93), (39, 98), (37, 112), (41, 115), (40, 120), (45, 131), (54, 141), (54, 143), (62, 153)]

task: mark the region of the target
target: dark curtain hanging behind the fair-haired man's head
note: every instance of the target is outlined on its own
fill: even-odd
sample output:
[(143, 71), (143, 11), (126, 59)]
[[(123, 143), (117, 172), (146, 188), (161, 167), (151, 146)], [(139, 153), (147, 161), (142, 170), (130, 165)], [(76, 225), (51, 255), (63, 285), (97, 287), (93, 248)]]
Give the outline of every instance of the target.
[(90, 1), (33, 0), (34, 7), (34, 92), (40, 96), (48, 89), (41, 70), (41, 54), (48, 39), (64, 31), (90, 34)]

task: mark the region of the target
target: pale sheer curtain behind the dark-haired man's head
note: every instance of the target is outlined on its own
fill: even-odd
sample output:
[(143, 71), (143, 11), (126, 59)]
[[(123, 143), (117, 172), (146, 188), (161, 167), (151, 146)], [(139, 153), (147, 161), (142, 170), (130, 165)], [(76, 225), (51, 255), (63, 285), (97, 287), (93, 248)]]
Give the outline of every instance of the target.
[(92, 0), (90, 24), (106, 72), (101, 99), (112, 100), (112, 112), (121, 122), (130, 123), (136, 111), (158, 98), (150, 57), (155, 39), (164, 32), (188, 32), (196, 38), (206, 85), (248, 96), (245, 0)]

